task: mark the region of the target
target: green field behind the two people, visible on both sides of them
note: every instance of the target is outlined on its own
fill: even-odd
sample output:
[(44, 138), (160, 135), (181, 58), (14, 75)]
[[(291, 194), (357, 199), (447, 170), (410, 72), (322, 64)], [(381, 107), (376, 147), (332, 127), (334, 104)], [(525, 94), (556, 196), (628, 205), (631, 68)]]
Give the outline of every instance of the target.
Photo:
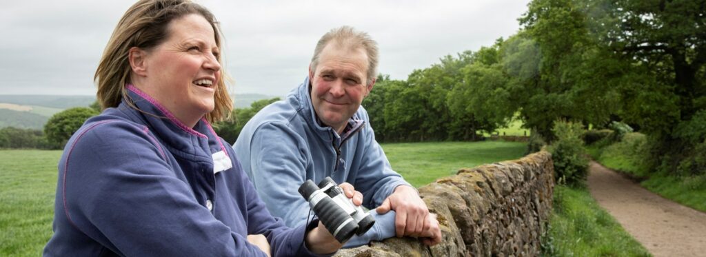
[[(515, 159), (522, 143), (395, 143), (390, 162), (415, 186), (460, 167)], [(60, 150), (0, 150), (0, 256), (40, 256), (52, 236)]]

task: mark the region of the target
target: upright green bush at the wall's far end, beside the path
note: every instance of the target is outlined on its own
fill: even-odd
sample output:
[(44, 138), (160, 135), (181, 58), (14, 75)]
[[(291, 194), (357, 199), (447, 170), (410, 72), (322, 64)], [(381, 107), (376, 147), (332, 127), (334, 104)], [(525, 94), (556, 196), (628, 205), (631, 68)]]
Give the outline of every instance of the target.
[(551, 129), (556, 136), (549, 145), (554, 160), (554, 177), (572, 186), (583, 186), (588, 176), (588, 158), (581, 140), (584, 129), (580, 123), (556, 121)]

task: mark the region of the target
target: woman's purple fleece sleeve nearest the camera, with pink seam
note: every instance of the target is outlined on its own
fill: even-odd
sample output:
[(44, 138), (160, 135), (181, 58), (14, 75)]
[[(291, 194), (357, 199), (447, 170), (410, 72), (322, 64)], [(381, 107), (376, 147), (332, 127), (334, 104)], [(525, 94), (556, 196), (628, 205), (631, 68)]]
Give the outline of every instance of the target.
[(150, 135), (114, 121), (69, 141), (59, 167), (68, 222), (122, 256), (264, 256), (198, 204)]

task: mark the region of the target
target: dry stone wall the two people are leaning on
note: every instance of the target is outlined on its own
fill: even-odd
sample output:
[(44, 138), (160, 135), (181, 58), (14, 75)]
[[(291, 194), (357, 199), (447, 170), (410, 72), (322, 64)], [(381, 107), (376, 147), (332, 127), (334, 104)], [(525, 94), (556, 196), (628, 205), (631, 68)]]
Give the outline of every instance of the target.
[(419, 188), (443, 239), (390, 238), (336, 256), (538, 256), (551, 214), (554, 165), (546, 151), (460, 169)]

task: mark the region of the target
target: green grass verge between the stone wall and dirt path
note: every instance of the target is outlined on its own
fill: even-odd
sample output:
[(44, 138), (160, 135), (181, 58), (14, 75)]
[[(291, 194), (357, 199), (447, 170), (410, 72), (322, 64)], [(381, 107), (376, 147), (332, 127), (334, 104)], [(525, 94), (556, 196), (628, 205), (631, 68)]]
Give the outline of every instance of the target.
[(557, 185), (542, 256), (650, 256), (586, 189)]

